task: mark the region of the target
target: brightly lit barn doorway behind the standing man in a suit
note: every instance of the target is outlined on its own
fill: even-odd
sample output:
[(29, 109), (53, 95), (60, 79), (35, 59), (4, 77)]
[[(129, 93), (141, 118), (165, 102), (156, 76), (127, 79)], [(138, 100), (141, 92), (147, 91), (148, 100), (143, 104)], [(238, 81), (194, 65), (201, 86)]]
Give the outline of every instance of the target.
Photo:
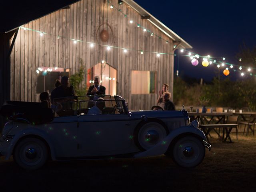
[(100, 84), (106, 88), (106, 94), (116, 95), (117, 70), (106, 61), (102, 61), (87, 70), (86, 86), (93, 85), (94, 77), (100, 77)]

